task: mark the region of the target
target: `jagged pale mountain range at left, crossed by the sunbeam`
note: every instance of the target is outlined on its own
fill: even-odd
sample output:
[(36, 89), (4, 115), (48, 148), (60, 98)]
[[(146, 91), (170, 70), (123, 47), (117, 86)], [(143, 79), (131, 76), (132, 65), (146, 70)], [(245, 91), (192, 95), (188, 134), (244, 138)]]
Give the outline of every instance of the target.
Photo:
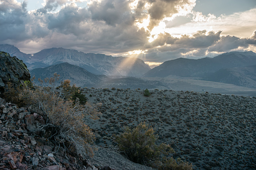
[(112, 57), (104, 54), (83, 53), (63, 48), (44, 49), (35, 54), (25, 54), (11, 45), (0, 45), (0, 51), (21, 58), (29, 70), (45, 68), (60, 63), (77, 65), (94, 74), (140, 77), (150, 70), (141, 59)]

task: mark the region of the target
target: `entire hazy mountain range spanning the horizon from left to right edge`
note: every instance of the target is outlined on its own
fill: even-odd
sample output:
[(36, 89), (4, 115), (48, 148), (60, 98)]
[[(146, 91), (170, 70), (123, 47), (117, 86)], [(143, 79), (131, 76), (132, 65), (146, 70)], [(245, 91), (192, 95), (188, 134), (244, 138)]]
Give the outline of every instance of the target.
[[(125, 82), (125, 87), (128, 87), (126, 85), (130, 81), (132, 86), (135, 87), (136, 81), (140, 82), (141, 79), (132, 79), (131, 77), (143, 77), (143, 80), (146, 81), (147, 78), (152, 77), (177, 76), (183, 79), (194, 78), (256, 88), (256, 54), (252, 51), (229, 52), (213, 58), (206, 57), (197, 60), (178, 58), (166, 61), (153, 69), (150, 69), (144, 61), (137, 58), (112, 57), (104, 54), (83, 53), (63, 48), (44, 49), (38, 53), (25, 54), (15, 46), (0, 45), (0, 51), (5, 51), (10, 53), (11, 56), (17, 56), (24, 60), (32, 75), (36, 74), (38, 77), (45, 77), (49, 75), (46, 72), (50, 72), (51, 69), (57, 72), (62, 70), (63, 73), (60, 72), (60, 74), (69, 77), (69, 79), (74, 77), (76, 84), (98, 84), (97, 82), (108, 82), (107, 84), (111, 84), (112, 82), (112, 84), (121, 85)], [(65, 64), (59, 65), (61, 63)], [(68, 63), (70, 65), (67, 65)], [(53, 65), (56, 65), (56, 67), (53, 67)], [(74, 65), (77, 67), (74, 67)], [(66, 69), (64, 69), (65, 67)], [(71, 67), (73, 70), (68, 67)], [(78, 74), (84, 75), (82, 76), (83, 78), (77, 79), (79, 77)], [(96, 75), (121, 76), (121, 79), (115, 78), (114, 80), (110, 77), (106, 78)], [(150, 83), (152, 84), (152, 82)], [(164, 82), (162, 83), (164, 84)], [(163, 85), (153, 84), (155, 86)], [(165, 86), (168, 85), (165, 84)]]

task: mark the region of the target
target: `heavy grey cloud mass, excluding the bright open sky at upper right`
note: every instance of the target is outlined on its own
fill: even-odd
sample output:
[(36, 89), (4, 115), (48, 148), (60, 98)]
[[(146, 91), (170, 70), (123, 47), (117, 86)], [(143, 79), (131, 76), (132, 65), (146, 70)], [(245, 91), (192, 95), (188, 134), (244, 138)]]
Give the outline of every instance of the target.
[[(26, 2), (1, 2), (0, 41), (24, 48), (36, 47), (38, 51), (63, 47), (86, 53), (119, 55), (142, 50), (145, 54), (136, 57), (163, 62), (184, 54), (204, 56), (207, 52), (226, 52), (256, 44), (256, 31), (250, 38), (238, 38), (221, 36), (221, 31), (206, 30), (180, 38), (161, 33), (149, 43), (150, 31), (136, 26), (149, 16), (148, 29), (151, 30), (163, 18), (177, 14), (178, 7), (190, 5), (188, 0), (140, 0), (133, 9), (129, 5), (133, 1), (95, 1), (87, 8), (78, 8), (71, 1), (48, 0), (43, 8), (31, 12), (26, 10)], [(55, 9), (60, 10), (53, 13)]]

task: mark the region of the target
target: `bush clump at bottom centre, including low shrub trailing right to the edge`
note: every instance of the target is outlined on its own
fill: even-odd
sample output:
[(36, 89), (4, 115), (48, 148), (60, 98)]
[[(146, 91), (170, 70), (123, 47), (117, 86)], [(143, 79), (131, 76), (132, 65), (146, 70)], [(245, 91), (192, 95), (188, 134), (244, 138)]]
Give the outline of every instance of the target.
[(162, 170), (192, 169), (192, 164), (183, 162), (180, 158), (176, 161), (172, 157), (166, 157), (173, 153), (174, 149), (164, 143), (156, 145), (156, 140), (157, 136), (153, 128), (145, 122), (140, 123), (134, 129), (126, 127), (125, 132), (117, 136), (119, 149), (131, 161)]

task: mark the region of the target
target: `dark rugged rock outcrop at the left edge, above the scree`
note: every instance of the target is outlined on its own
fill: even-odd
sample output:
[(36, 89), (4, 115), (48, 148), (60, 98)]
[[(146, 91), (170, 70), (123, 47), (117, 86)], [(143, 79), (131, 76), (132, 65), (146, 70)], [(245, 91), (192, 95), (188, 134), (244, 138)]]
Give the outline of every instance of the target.
[(14, 87), (24, 86), (30, 83), (30, 73), (22, 60), (0, 51), (0, 93), (3, 93), (8, 82)]

